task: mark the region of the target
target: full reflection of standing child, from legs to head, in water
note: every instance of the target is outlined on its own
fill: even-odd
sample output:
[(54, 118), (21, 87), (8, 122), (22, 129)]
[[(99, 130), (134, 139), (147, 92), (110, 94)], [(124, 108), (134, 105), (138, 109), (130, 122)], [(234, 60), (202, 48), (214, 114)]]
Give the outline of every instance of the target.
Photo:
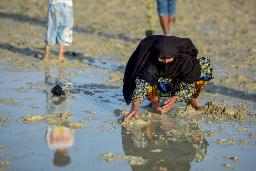
[[(52, 88), (59, 84), (63, 90), (71, 89), (71, 79), (65, 79), (63, 69), (58, 68), (58, 77), (50, 75), (50, 69), (46, 68), (45, 83), (48, 85), (46, 89), (46, 109), (48, 113), (67, 113), (71, 112), (72, 100), (68, 96), (54, 96), (51, 92)], [(66, 166), (71, 159), (68, 155), (68, 148), (72, 147), (75, 140), (75, 131), (67, 128), (65, 125), (49, 125), (44, 132), (49, 149), (56, 149), (53, 157), (55, 166)]]

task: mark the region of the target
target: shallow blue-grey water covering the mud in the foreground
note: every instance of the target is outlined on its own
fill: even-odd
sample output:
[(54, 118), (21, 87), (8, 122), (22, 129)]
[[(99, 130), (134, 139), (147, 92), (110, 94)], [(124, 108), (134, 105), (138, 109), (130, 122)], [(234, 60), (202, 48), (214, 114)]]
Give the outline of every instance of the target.
[[(97, 75), (94, 77), (84, 78), (84, 76), (66, 76), (65, 79), (58, 80), (58, 70), (50, 69), (52, 80), (60, 81), (62, 84), (71, 85), (74, 90), (79, 85), (95, 83), (100, 85), (105, 82), (104, 76)], [(70, 70), (71, 71), (71, 70)], [(78, 70), (79, 71), (79, 70)], [(72, 72), (75, 72), (73, 70)], [(85, 70), (84, 72), (91, 72)], [(2, 71), (1, 71), (2, 73)], [(65, 73), (65, 72), (64, 72)], [(69, 73), (67, 71), (66, 73)], [(53, 79), (55, 78), (55, 79)], [(231, 168), (253, 170), (255, 161), (255, 137), (250, 138), (249, 133), (255, 132), (255, 122), (252, 125), (247, 123), (216, 121), (207, 117), (202, 118), (200, 115), (183, 116), (178, 115), (174, 118), (176, 109), (172, 109), (167, 114), (152, 114), (151, 123), (146, 125), (122, 125), (119, 122), (113, 122), (122, 119), (121, 114), (114, 113), (116, 108), (130, 108), (122, 99), (122, 89), (101, 87), (98, 89), (82, 89), (80, 92), (74, 92), (64, 100), (54, 103), (50, 100), (52, 93), (47, 85), (34, 86), (38, 82), (45, 81), (45, 73), (13, 73), (5, 71), (1, 76), (1, 98), (13, 98), (20, 103), (3, 103), (1, 104), (1, 118), (13, 119), (2, 126), (0, 129), (2, 161), (10, 161), (12, 169), (17, 170), (102, 170), (105, 168), (111, 170), (222, 170), (224, 164), (234, 165)], [(31, 80), (31, 84), (26, 84)], [(71, 81), (70, 81), (71, 80)], [(81, 81), (82, 80), (82, 81)], [(55, 82), (56, 83), (56, 82)], [(76, 85), (76, 86), (74, 86)], [(23, 87), (23, 88), (21, 88)], [(13, 88), (13, 89), (11, 89)], [(17, 89), (17, 90), (15, 90)], [(18, 90), (27, 92), (18, 92)], [(93, 92), (84, 93), (84, 90)], [(97, 91), (95, 91), (97, 90)], [(34, 97), (34, 100), (29, 98)], [(19, 105), (19, 106), (15, 106)], [(31, 108), (31, 106), (35, 108)], [(145, 101), (145, 105), (147, 102)], [(150, 111), (145, 106), (139, 109), (140, 113)], [(36, 108), (39, 107), (39, 108)], [(182, 109), (183, 110), (183, 109)], [(87, 112), (84, 112), (87, 111)], [(37, 122), (17, 122), (22, 119), (23, 115), (29, 114), (54, 114), (71, 112), (73, 115), (69, 121), (81, 122), (86, 128), (73, 129), (63, 127), (64, 125), (52, 125), (45, 123), (44, 120)], [(91, 112), (91, 113), (88, 113)], [(86, 118), (92, 117), (91, 120)], [(193, 122), (197, 119), (197, 122)], [(208, 124), (209, 121), (212, 123)], [(255, 119), (254, 119), (255, 121)], [(113, 124), (113, 123), (115, 124)], [(238, 124), (234, 129), (234, 125)], [(104, 128), (106, 125), (106, 128)], [(103, 127), (102, 127), (103, 126)], [(221, 126), (223, 127), (221, 129)], [(249, 130), (238, 132), (236, 129), (249, 127)], [(62, 130), (62, 134), (74, 132), (73, 143), (66, 148), (68, 161), (63, 163), (62, 167), (57, 166), (61, 163), (55, 162), (60, 155), (54, 154), (58, 150), (50, 149), (49, 140), (46, 138), (47, 132)], [(211, 130), (216, 135), (209, 137), (205, 131)], [(170, 132), (167, 134), (166, 132)], [(54, 136), (54, 131), (52, 130)], [(127, 133), (129, 132), (129, 134)], [(11, 134), (13, 133), (13, 134)], [(69, 140), (70, 135), (69, 136)], [(255, 136), (255, 135), (254, 135)], [(234, 145), (216, 144), (213, 141), (218, 139), (234, 140)], [(252, 143), (239, 144), (240, 140), (254, 141)], [(48, 143), (47, 143), (48, 141)], [(249, 144), (249, 145), (248, 145)], [(160, 149), (161, 152), (155, 153), (150, 150)], [(244, 150), (243, 150), (244, 149)], [(60, 149), (59, 149), (60, 150)], [(132, 156), (142, 156), (148, 159), (145, 165), (126, 165), (129, 161), (114, 159), (109, 163), (104, 158), (99, 157), (101, 154), (113, 153)], [(238, 156), (240, 160), (233, 162), (232, 159), (225, 157)], [(248, 157), (251, 156), (251, 157)], [(219, 157), (216, 159), (215, 157)], [(38, 162), (40, 161), (40, 162)], [(65, 161), (62, 159), (62, 161)], [(240, 168), (241, 167), (241, 168)]]

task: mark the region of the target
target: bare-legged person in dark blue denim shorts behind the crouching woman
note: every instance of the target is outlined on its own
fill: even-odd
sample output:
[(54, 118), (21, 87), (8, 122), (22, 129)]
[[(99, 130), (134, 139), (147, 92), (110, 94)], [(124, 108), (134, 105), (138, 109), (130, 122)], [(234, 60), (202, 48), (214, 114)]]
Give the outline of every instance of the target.
[(175, 22), (177, 0), (157, 0), (158, 15), (164, 34), (170, 36)]

